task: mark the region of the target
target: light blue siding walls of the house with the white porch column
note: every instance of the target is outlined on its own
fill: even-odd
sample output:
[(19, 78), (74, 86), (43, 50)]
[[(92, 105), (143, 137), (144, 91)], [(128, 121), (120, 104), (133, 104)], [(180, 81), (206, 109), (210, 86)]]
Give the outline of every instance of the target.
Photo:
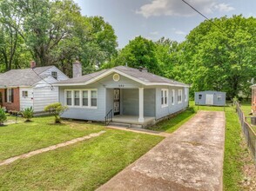
[[(154, 116), (158, 120), (188, 106), (188, 88), (145, 86), (121, 75), (120, 80), (114, 82), (112, 75), (90, 85), (59, 87), (59, 100), (62, 104), (65, 104), (65, 89), (98, 89), (97, 108), (69, 107), (62, 117), (104, 121), (104, 116), (113, 109), (114, 89), (120, 89), (120, 115), (138, 115), (138, 88), (144, 88), (145, 116)], [(168, 89), (168, 106), (166, 107), (161, 105), (161, 89)], [(174, 90), (173, 104), (172, 89)], [(182, 89), (181, 102), (178, 102), (179, 89)]]

